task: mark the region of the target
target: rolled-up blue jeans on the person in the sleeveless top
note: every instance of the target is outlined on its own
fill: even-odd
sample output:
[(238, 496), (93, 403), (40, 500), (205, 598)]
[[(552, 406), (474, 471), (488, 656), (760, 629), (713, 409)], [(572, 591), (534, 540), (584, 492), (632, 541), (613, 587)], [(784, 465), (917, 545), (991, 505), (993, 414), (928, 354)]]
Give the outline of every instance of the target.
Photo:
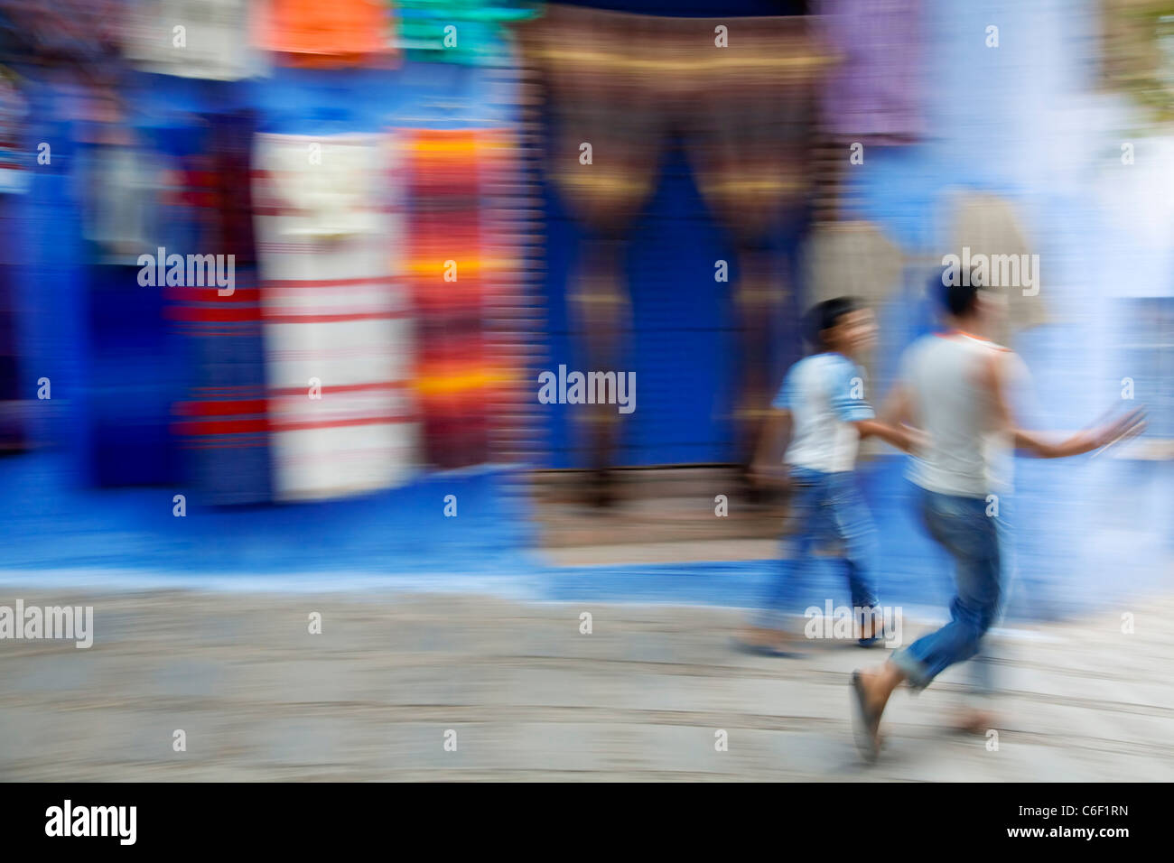
[(998, 620), (1001, 601), (999, 524), (986, 514), (986, 500), (918, 491), (930, 535), (954, 559), (957, 595), (950, 604), (949, 623), (892, 655), (913, 689), (925, 688), (954, 662), (974, 656), (983, 635)]

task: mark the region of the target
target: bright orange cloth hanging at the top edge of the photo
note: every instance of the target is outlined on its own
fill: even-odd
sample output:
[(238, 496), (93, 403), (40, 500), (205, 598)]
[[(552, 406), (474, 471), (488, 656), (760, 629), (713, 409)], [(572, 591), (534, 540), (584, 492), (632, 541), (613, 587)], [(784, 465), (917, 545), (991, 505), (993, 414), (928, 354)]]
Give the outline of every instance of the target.
[(359, 66), (389, 59), (385, 0), (270, 0), (259, 42), (297, 66)]

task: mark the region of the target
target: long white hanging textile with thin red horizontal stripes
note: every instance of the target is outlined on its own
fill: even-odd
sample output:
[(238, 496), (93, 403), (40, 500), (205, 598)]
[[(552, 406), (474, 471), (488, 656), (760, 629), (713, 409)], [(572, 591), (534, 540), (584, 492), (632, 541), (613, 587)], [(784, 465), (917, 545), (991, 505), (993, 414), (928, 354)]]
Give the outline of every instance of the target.
[(254, 213), (278, 500), (386, 488), (418, 464), (393, 153), (373, 134), (256, 139)]

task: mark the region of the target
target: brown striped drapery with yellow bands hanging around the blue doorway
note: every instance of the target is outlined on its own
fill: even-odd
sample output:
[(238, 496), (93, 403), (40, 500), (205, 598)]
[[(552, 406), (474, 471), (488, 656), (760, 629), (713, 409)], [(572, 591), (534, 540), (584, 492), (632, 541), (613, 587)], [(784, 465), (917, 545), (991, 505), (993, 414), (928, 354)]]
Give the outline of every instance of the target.
[[(520, 34), (553, 123), (549, 180), (588, 235), (571, 309), (583, 360), (619, 370), (632, 329), (627, 232), (655, 189), (662, 147), (680, 140), (737, 249), (748, 458), (774, 383), (771, 310), (783, 290), (767, 249), (809, 193), (816, 85), (830, 55), (804, 18), (655, 18), (552, 5)], [(580, 161), (582, 144), (591, 144), (589, 164)], [(602, 504), (622, 417), (608, 407), (587, 416)]]

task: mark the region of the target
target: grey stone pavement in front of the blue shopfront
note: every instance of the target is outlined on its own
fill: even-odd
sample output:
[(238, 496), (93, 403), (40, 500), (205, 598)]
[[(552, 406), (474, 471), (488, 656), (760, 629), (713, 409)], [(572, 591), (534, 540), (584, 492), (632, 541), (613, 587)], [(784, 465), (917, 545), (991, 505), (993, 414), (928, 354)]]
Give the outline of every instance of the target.
[(848, 675), (886, 650), (740, 654), (730, 609), (8, 587), (0, 605), (18, 595), (93, 605), (95, 641), (0, 641), (4, 781), (1174, 780), (1172, 600), (1000, 631), (998, 749), (945, 729), (952, 669), (898, 693), (865, 767)]

